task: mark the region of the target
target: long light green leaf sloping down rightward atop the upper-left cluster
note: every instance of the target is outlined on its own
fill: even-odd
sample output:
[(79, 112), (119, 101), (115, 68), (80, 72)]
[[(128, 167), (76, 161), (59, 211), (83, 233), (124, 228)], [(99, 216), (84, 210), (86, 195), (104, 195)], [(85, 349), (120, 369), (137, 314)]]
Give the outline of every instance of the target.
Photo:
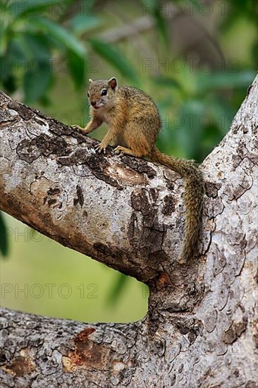
[(58, 40), (61, 44), (63, 44), (64, 47), (66, 47), (66, 49), (73, 51), (78, 56), (82, 56), (82, 58), (85, 56), (86, 50), (83, 44), (70, 32), (68, 32), (68, 30), (55, 23), (53, 20), (38, 16), (37, 18), (28, 18), (27, 23), (35, 25), (38, 30), (43, 30), (49, 35), (53, 35), (56, 40)]

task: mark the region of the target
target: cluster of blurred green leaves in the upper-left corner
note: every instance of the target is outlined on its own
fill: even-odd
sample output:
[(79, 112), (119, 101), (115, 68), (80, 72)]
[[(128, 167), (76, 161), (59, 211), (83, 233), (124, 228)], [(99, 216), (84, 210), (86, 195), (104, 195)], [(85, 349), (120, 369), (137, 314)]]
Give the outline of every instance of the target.
[(68, 6), (69, 1), (66, 4), (61, 0), (1, 4), (4, 15), (1, 20), (1, 83), (7, 92), (22, 88), (27, 104), (47, 99), (49, 87), (55, 80), (56, 55), (68, 59), (75, 87), (82, 87), (85, 81), (85, 46), (58, 20), (50, 17), (49, 11), (54, 8), (49, 7), (59, 3)]

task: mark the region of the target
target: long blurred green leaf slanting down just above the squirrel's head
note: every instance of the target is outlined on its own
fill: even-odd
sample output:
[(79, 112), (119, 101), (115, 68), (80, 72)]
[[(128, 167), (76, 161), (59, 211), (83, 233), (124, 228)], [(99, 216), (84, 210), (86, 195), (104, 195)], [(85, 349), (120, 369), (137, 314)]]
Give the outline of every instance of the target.
[(115, 49), (112, 44), (100, 42), (97, 39), (91, 39), (90, 44), (92, 49), (102, 56), (107, 62), (120, 71), (121, 75), (128, 78), (132, 83), (137, 85), (137, 76), (129, 61), (126, 61), (123, 54), (118, 49)]

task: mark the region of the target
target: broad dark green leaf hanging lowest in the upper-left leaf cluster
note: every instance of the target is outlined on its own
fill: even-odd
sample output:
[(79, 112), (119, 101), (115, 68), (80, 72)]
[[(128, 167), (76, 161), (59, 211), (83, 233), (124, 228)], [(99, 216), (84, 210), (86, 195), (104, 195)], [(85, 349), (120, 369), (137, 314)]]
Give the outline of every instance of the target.
[(44, 96), (51, 82), (51, 68), (49, 61), (38, 60), (37, 68), (29, 68), (23, 78), (25, 103), (30, 104)]

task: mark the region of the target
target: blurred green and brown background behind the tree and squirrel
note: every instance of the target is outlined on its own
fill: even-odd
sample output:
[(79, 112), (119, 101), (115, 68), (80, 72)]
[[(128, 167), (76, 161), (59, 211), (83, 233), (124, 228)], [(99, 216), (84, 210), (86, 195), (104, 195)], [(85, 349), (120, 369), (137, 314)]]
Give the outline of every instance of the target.
[[(202, 162), (254, 79), (256, 21), (252, 0), (2, 1), (1, 89), (83, 126), (87, 79), (116, 76), (154, 98), (159, 148)], [(1, 305), (87, 322), (145, 315), (143, 284), (3, 213), (0, 229)]]

